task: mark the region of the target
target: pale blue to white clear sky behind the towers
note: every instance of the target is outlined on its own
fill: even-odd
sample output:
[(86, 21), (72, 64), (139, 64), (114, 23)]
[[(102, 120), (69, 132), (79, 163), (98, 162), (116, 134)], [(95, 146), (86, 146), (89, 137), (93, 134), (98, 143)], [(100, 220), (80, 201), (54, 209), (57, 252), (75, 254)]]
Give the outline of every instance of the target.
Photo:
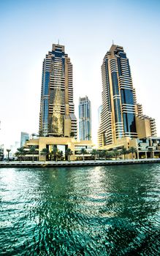
[(38, 132), (42, 61), (58, 39), (73, 64), (77, 118), (79, 97), (91, 100), (94, 143), (101, 65), (113, 41), (129, 58), (137, 102), (160, 136), (159, 0), (0, 0), (0, 24), (0, 145)]

